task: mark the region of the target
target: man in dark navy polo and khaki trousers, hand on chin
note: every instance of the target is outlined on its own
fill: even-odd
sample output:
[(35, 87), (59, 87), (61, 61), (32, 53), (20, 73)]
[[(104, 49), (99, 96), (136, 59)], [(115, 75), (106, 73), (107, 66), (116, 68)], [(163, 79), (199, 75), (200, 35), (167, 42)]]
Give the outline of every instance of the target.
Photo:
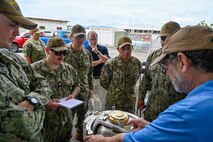
[[(95, 31), (90, 31), (87, 34), (89, 46), (85, 47), (93, 57), (93, 95), (100, 101), (99, 108), (96, 110), (104, 110), (106, 90), (100, 85), (101, 69), (107, 60), (110, 58), (108, 49), (105, 46), (98, 44), (98, 34)], [(97, 106), (97, 105), (96, 105)]]

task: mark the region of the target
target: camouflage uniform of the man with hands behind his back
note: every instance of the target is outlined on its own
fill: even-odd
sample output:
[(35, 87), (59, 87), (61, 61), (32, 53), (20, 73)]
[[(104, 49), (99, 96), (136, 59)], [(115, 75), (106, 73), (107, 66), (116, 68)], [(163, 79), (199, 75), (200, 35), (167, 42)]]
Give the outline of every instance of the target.
[(140, 77), (141, 63), (131, 57), (126, 65), (119, 56), (107, 61), (102, 68), (100, 83), (107, 90), (106, 110), (115, 109), (134, 112), (136, 96), (135, 85)]

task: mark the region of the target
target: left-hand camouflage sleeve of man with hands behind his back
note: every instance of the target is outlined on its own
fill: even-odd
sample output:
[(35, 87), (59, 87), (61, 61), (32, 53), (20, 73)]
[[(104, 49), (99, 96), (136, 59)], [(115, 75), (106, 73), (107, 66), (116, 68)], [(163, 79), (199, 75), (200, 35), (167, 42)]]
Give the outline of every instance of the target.
[(103, 68), (101, 70), (101, 75), (100, 75), (100, 84), (106, 90), (108, 90), (108, 87), (109, 87), (112, 77), (113, 77), (111, 60), (112, 59), (108, 60), (106, 62), (106, 64), (103, 66)]

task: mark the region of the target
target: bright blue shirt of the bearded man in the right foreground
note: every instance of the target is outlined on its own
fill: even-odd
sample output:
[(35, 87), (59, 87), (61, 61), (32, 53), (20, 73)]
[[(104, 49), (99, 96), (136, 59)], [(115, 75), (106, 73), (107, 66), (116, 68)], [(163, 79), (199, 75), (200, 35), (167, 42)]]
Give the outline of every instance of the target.
[(213, 141), (213, 80), (193, 89), (144, 129), (124, 136), (124, 142), (158, 141)]

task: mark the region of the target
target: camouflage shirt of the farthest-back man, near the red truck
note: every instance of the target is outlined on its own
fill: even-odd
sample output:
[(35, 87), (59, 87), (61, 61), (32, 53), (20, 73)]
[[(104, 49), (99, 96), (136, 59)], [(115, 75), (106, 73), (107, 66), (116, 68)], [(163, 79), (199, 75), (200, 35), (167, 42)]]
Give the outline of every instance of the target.
[(45, 44), (42, 40), (35, 41), (33, 38), (28, 39), (24, 45), (22, 52), (31, 59), (31, 63), (42, 60), (45, 57)]

